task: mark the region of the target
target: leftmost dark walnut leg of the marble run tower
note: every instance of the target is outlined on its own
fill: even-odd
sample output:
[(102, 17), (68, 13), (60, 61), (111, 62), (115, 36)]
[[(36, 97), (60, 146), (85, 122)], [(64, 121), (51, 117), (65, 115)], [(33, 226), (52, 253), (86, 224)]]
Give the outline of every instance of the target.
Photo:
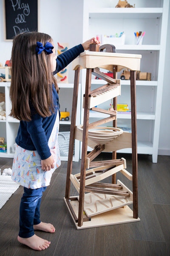
[(66, 178), (66, 187), (65, 187), (65, 198), (70, 197), (70, 175), (72, 172), (72, 163), (73, 163), (73, 151), (74, 151), (74, 137), (75, 137), (75, 127), (76, 127), (76, 113), (77, 113), (77, 97), (79, 90), (79, 71), (80, 67), (75, 70), (74, 76), (74, 90), (73, 90), (73, 103), (72, 103), (72, 112), (71, 112), (71, 128), (70, 128), (70, 143), (69, 143), (69, 154), (68, 154), (68, 164), (67, 164), (67, 178)]

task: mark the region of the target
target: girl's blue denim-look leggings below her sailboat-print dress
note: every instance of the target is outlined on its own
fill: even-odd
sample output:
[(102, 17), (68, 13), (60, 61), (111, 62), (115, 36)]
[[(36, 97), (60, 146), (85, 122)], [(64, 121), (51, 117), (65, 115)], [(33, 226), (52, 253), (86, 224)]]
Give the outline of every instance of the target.
[(40, 203), (42, 192), (46, 187), (40, 189), (27, 189), (24, 187), (23, 197), (20, 203), (20, 231), (19, 236), (28, 238), (34, 235), (33, 225), (40, 221)]

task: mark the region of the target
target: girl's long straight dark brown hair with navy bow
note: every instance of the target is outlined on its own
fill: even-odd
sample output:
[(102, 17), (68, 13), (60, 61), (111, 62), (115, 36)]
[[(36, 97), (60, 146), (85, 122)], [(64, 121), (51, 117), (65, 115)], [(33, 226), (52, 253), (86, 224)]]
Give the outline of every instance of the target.
[(51, 73), (49, 55), (35, 51), (37, 42), (45, 46), (51, 36), (39, 32), (26, 32), (15, 36), (11, 53), (12, 103), (10, 116), (23, 121), (31, 120), (31, 106), (43, 117), (54, 112), (52, 84), (57, 92), (57, 81)]

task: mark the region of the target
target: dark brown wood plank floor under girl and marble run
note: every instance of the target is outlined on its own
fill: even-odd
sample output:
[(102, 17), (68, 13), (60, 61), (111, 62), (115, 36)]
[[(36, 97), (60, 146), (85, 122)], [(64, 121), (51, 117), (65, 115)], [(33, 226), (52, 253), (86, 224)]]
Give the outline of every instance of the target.
[[(125, 157), (131, 172), (130, 155), (120, 157)], [(107, 158), (111, 159), (110, 153), (102, 153), (99, 159)], [(2, 170), (11, 165), (11, 159), (0, 158)], [(79, 171), (80, 161), (73, 163), (73, 174)], [(170, 256), (170, 156), (159, 156), (157, 164), (151, 156), (138, 156), (141, 221), (127, 224), (77, 230), (63, 199), (66, 172), (67, 162), (62, 162), (42, 197), (41, 220), (54, 224), (56, 232), (36, 234), (51, 241), (50, 247), (38, 252), (17, 241), (20, 186), (0, 209), (0, 256)], [(118, 173), (116, 177), (132, 189), (125, 176)], [(111, 183), (109, 179), (105, 182)], [(71, 195), (77, 195), (73, 186)]]

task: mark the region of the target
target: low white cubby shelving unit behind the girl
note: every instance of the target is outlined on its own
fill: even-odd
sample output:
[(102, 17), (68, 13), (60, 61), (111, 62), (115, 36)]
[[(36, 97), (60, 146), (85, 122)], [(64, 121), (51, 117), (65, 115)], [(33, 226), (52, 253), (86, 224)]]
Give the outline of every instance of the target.
[[(6, 120), (0, 120), (0, 137), (5, 138), (5, 142), (7, 144), (7, 152), (0, 152), (0, 157), (14, 157), (14, 143), (15, 137), (17, 136), (17, 131), (20, 122), (17, 119), (8, 116), (11, 110), (11, 102), (9, 99), (9, 89), (10, 82), (1, 82), (0, 83), (0, 92), (5, 93), (6, 97)], [(58, 84), (60, 88), (59, 93), (59, 102), (60, 102), (60, 110), (65, 111), (65, 107), (71, 114), (71, 105), (72, 105), (72, 96), (74, 84)], [(79, 86), (81, 86), (79, 84)], [(78, 96), (78, 106), (80, 109), (80, 100), (81, 96)], [(65, 104), (65, 105), (64, 105)], [(77, 111), (77, 124), (80, 123), (80, 113)], [(69, 121), (60, 121), (62, 125), (71, 125), (71, 116)], [(60, 156), (62, 161), (67, 161), (68, 157)], [(73, 161), (79, 160), (79, 141), (75, 140), (75, 153), (73, 156)]]

